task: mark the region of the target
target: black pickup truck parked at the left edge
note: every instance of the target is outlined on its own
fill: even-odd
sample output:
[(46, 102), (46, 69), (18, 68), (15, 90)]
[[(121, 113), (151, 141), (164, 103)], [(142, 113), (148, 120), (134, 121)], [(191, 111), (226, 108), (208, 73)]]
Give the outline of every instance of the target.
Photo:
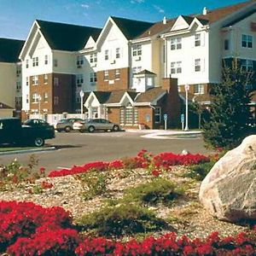
[(22, 125), (20, 119), (0, 119), (0, 144), (31, 144), (42, 147), (45, 139), (54, 137), (54, 127), (44, 120), (28, 119)]

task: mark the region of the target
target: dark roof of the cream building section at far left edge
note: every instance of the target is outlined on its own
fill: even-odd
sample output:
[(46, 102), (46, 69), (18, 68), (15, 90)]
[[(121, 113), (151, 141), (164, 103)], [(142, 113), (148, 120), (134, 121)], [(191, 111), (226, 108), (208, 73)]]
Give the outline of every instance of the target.
[(0, 38), (0, 62), (18, 62), (23, 40)]

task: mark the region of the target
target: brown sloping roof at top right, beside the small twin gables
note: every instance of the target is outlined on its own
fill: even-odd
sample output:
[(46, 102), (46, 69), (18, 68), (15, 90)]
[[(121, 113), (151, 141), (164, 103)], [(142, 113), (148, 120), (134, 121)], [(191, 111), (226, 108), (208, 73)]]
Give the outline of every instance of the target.
[(194, 15), (194, 17), (203, 19), (203, 20), (208, 20), (209, 23), (213, 23), (223, 19), (225, 16), (230, 15), (238, 11), (239, 9), (242, 9), (252, 3), (255, 3), (255, 0), (247, 1), (243, 3), (237, 3), (237, 4), (225, 6), (218, 9), (212, 9), (207, 12), (207, 15)]

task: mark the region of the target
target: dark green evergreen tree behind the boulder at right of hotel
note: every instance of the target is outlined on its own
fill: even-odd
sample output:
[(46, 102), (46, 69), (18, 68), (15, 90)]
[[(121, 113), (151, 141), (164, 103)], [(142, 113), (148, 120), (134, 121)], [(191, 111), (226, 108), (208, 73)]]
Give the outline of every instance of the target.
[(224, 63), (222, 83), (210, 91), (212, 104), (210, 119), (203, 124), (204, 141), (213, 148), (233, 148), (250, 132), (253, 72), (242, 68), (235, 59)]

